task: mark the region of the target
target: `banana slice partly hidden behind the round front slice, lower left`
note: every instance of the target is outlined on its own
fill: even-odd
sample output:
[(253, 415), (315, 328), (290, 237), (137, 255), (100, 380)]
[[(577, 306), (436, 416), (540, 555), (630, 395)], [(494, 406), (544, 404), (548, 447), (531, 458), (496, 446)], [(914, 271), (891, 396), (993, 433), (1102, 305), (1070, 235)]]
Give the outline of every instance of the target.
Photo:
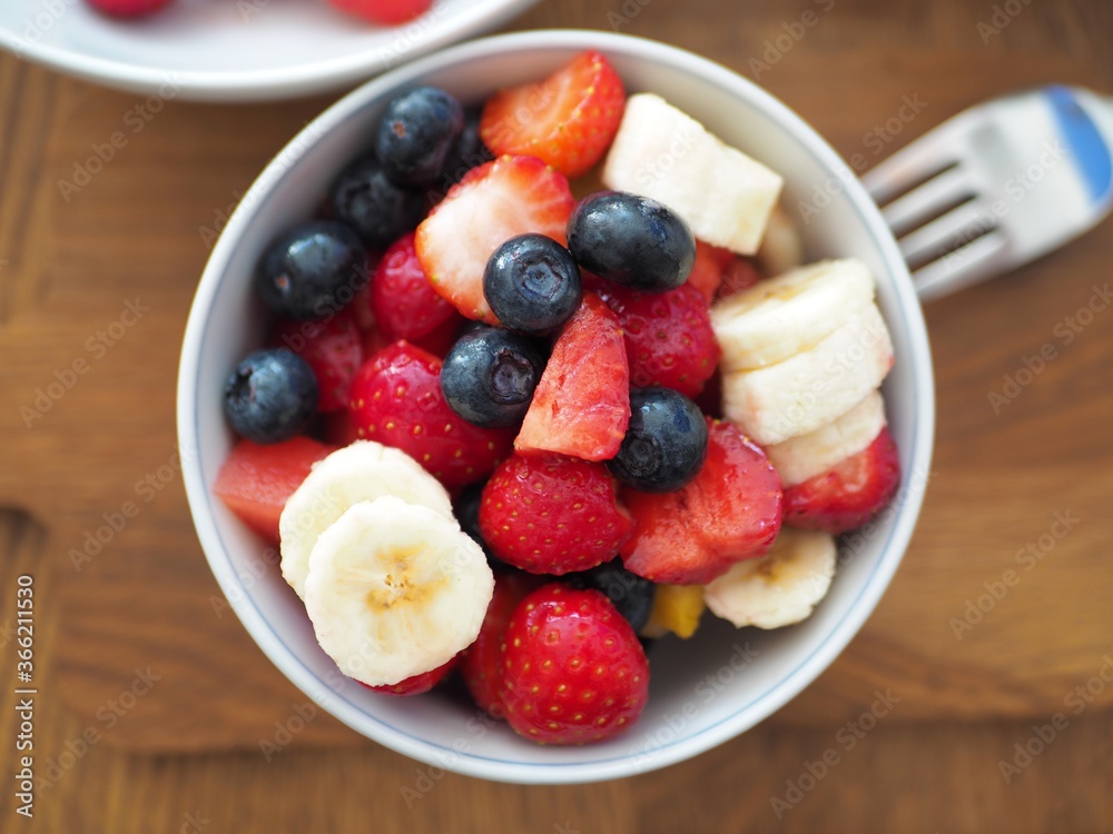
[(401, 449), (356, 440), (313, 467), (278, 517), (282, 575), (299, 597), (317, 537), (356, 502), (386, 495), (453, 518), (444, 487)]

